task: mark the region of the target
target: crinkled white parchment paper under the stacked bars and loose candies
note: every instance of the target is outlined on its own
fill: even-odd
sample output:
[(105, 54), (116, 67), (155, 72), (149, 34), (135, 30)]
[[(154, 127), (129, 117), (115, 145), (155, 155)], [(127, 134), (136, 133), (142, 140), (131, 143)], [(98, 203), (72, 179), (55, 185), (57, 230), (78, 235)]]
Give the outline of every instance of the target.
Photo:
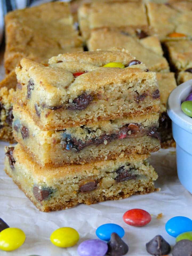
[[(2, 59), (2, 53), (0, 55)], [(3, 77), (2, 61), (0, 79)], [(151, 156), (159, 178), (155, 187), (161, 190), (146, 195), (136, 195), (120, 201), (107, 201), (95, 205), (79, 205), (72, 209), (43, 213), (35, 208), (25, 194), (18, 189), (3, 171), (4, 146), (0, 142), (0, 217), (10, 227), (21, 228), (26, 234), (25, 243), (17, 250), (4, 252), (0, 256), (76, 256), (77, 246), (86, 239), (97, 238), (95, 230), (105, 223), (116, 223), (125, 229), (123, 240), (129, 246), (130, 256), (149, 255), (145, 244), (155, 235), (162, 235), (170, 244), (175, 239), (165, 231), (165, 223), (174, 216), (183, 215), (192, 218), (192, 196), (179, 183), (177, 178), (175, 149), (161, 149)], [(122, 216), (132, 208), (141, 208), (152, 214), (151, 222), (144, 227), (132, 227), (125, 224)], [(162, 213), (161, 219), (157, 215)], [(80, 235), (78, 244), (68, 249), (55, 247), (49, 240), (51, 233), (59, 227), (73, 227)]]

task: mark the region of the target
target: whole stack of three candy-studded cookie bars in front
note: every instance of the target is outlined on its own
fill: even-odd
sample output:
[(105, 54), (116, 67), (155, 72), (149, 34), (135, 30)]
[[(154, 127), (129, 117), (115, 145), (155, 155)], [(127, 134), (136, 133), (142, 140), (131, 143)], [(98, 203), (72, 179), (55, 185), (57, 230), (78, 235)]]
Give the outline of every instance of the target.
[(59, 54), (16, 69), (5, 171), (42, 211), (154, 191), (156, 74), (127, 50)]

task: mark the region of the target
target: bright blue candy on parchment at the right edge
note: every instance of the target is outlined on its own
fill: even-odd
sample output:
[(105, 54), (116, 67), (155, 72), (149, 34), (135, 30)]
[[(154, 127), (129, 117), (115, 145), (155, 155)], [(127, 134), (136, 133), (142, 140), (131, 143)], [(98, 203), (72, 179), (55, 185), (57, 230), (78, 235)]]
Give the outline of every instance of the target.
[(165, 230), (172, 237), (177, 237), (181, 233), (192, 231), (192, 220), (183, 216), (173, 217), (165, 224)]

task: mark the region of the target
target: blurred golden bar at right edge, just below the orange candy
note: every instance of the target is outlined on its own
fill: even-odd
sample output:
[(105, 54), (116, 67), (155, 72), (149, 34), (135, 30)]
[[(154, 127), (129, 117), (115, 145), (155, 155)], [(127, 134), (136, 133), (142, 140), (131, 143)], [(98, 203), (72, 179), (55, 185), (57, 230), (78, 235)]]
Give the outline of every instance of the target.
[(165, 42), (169, 60), (175, 70), (182, 71), (192, 67), (192, 41), (179, 40)]

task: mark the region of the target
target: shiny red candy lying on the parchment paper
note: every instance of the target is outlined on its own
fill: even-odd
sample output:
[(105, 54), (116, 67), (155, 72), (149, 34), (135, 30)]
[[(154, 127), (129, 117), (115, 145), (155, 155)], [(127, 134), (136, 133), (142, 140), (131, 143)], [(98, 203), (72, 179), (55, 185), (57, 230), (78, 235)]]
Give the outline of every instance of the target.
[(151, 215), (142, 209), (131, 209), (123, 214), (123, 221), (131, 226), (142, 227), (151, 221)]

